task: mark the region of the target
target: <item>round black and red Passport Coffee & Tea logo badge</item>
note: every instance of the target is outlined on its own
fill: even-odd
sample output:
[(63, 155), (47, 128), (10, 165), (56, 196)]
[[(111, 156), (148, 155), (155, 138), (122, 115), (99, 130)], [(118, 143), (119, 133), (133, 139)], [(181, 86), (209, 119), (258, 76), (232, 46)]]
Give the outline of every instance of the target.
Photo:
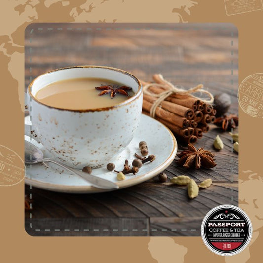
[(232, 256), (241, 252), (250, 242), (252, 224), (239, 207), (220, 205), (204, 217), (201, 235), (212, 252), (221, 256)]

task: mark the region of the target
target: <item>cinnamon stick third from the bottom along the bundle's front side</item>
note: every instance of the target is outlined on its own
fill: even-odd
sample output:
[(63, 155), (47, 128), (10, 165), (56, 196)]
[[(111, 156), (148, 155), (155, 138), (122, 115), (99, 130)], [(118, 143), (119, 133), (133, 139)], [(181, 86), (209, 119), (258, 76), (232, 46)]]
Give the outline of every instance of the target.
[[(144, 94), (143, 100), (147, 100), (150, 103), (154, 103), (157, 100), (157, 98)], [(186, 117), (187, 119), (192, 119), (194, 117), (194, 112), (192, 109), (189, 109), (179, 104), (175, 104), (169, 101), (163, 101), (160, 103), (160, 106), (162, 109), (165, 109), (171, 113), (175, 113), (181, 117)]]

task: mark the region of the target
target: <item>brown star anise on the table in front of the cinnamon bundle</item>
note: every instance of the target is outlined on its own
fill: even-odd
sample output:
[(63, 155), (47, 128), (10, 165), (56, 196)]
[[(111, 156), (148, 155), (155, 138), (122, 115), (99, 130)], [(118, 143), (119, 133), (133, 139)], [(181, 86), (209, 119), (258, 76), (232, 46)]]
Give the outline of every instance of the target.
[(199, 169), (203, 167), (209, 169), (217, 165), (214, 159), (215, 154), (203, 148), (197, 150), (192, 144), (188, 144), (188, 150), (182, 151), (177, 156), (180, 158), (177, 164), (185, 168)]

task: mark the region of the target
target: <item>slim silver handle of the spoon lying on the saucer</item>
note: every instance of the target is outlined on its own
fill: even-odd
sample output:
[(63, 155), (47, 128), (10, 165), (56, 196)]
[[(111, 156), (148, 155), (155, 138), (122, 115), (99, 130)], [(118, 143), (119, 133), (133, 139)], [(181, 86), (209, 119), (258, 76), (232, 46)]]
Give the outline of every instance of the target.
[(48, 162), (55, 163), (55, 164), (63, 167), (64, 169), (67, 169), (68, 171), (74, 173), (75, 175), (82, 177), (87, 182), (91, 183), (93, 186), (95, 186), (97, 188), (101, 188), (101, 189), (118, 189), (119, 188), (118, 185), (116, 185), (115, 183), (113, 183), (109, 180), (106, 180), (106, 179), (103, 179), (103, 178), (100, 178), (100, 177), (97, 177), (97, 176), (94, 176), (94, 175), (91, 175), (88, 173), (84, 173), (82, 171), (71, 168), (65, 164), (60, 163), (60, 162), (57, 162), (57, 161), (54, 161), (54, 160), (51, 160), (48, 158), (42, 159), (42, 161), (48, 161)]

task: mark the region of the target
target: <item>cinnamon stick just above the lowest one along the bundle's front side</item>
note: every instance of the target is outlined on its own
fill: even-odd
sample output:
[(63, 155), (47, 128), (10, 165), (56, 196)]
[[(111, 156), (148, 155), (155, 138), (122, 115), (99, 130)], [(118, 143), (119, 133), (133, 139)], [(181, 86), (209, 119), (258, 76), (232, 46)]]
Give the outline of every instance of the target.
[[(144, 100), (143, 110), (150, 113), (151, 107), (152, 107), (152, 103)], [(170, 122), (171, 124), (176, 125), (181, 128), (187, 128), (189, 127), (189, 124), (190, 124), (190, 121), (188, 119), (178, 116), (174, 113), (170, 113), (160, 107), (156, 108), (155, 116), (163, 120), (166, 120)]]

